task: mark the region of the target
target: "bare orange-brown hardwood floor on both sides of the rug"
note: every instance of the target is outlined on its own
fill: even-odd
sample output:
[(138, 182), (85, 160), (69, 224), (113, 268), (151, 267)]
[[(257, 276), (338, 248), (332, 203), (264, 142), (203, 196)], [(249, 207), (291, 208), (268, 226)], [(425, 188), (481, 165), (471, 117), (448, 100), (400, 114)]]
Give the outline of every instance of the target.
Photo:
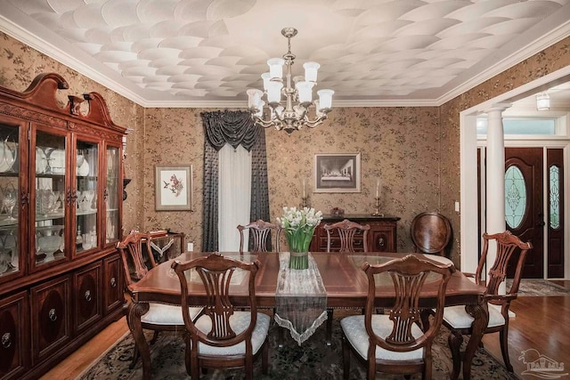
[[(570, 281), (560, 285), (570, 287)], [(516, 318), (509, 324), (509, 357), (515, 373), (526, 369), (518, 360), (522, 351), (535, 349), (559, 363), (570, 363), (570, 295), (519, 296), (511, 304)], [(71, 380), (88, 368), (103, 352), (126, 334), (126, 319), (119, 319), (84, 344), (66, 360), (41, 377), (41, 380)], [(484, 336), (485, 348), (502, 364), (499, 334)]]

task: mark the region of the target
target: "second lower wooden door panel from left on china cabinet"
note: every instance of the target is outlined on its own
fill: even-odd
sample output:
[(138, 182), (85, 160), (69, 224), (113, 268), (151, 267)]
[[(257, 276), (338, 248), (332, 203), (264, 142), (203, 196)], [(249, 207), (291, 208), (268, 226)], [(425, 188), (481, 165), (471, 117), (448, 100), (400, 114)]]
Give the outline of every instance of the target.
[(70, 280), (53, 279), (31, 289), (32, 365), (49, 357), (70, 338)]

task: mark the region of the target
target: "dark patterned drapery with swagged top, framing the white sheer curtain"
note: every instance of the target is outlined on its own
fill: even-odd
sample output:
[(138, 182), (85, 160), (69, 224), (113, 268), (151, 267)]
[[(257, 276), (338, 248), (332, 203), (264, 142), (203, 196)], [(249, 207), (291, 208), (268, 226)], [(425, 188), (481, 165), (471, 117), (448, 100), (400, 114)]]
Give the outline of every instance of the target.
[[(250, 219), (269, 221), (269, 189), (265, 131), (255, 125), (248, 111), (202, 112), (204, 141), (204, 211), (202, 242), (204, 252), (218, 249), (218, 150), (225, 144), (234, 149), (241, 145), (251, 152)], [(271, 239), (269, 239), (271, 244)], [(271, 250), (271, 247), (269, 248)]]

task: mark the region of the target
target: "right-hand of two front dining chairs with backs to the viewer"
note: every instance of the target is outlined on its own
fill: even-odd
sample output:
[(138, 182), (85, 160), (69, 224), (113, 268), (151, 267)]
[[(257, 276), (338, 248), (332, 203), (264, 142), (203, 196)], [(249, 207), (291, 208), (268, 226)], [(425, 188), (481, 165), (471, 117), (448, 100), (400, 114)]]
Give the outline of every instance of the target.
[[(362, 271), (368, 278), (365, 314), (340, 321), (344, 378), (347, 379), (350, 373), (352, 351), (356, 358), (366, 363), (368, 379), (374, 379), (376, 372), (400, 375), (421, 372), (423, 379), (431, 379), (431, 346), (441, 327), (445, 287), (455, 267), (452, 263), (434, 263), (407, 255), (378, 265), (364, 263)], [(382, 275), (376, 277), (379, 274)], [(377, 281), (382, 286), (391, 283), (394, 293), (387, 298), (376, 295)], [(417, 323), (422, 311), (419, 296), (426, 283), (437, 289), (437, 303), (433, 322), (422, 331)], [(378, 306), (384, 310), (389, 308), (389, 315), (379, 313)]]

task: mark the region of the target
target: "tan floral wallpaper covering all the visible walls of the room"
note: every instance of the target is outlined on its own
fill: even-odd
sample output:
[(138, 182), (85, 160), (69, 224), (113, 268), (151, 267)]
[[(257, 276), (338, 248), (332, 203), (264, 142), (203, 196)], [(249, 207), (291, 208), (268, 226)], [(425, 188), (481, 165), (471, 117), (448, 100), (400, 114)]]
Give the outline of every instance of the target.
[[(127, 187), (124, 230), (183, 231), (201, 249), (204, 134), (199, 114), (212, 109), (143, 109), (11, 36), (0, 33), (0, 44), (0, 85), (23, 91), (37, 74), (57, 72), (69, 82), (69, 91), (60, 95), (62, 105), (68, 94), (101, 93), (113, 121), (134, 129), (127, 145), (126, 176), (133, 182)], [(381, 211), (402, 218), (398, 249), (412, 247), (413, 215), (440, 210), (452, 220), (452, 259), (459, 264), (460, 215), (453, 210), (460, 198), (459, 112), (569, 65), (569, 46), (566, 38), (439, 108), (336, 108), (314, 130), (291, 136), (266, 130), (272, 221), (282, 206), (300, 204), (300, 178), (314, 181), (314, 153), (361, 152), (362, 192), (310, 193), (312, 206), (325, 213), (334, 206), (347, 214), (370, 213), (380, 176)], [(193, 212), (154, 211), (156, 164), (193, 166)]]

